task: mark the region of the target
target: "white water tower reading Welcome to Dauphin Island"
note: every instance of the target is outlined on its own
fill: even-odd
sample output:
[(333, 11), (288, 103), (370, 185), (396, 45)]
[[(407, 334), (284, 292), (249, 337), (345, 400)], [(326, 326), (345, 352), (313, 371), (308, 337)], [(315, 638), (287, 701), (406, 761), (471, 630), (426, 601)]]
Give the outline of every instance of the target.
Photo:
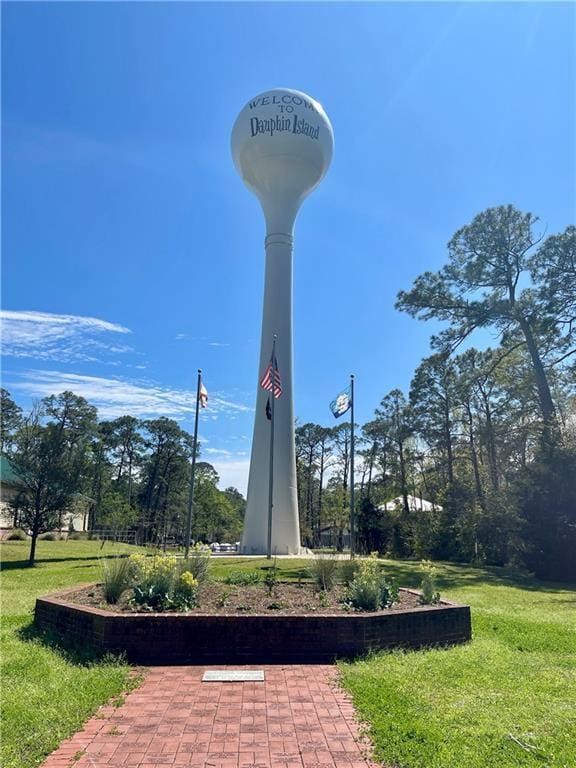
[(232, 131), (234, 165), (260, 200), (266, 220), (258, 396), (242, 538), (245, 554), (267, 551), (269, 394), (260, 387), (260, 378), (270, 361), (274, 335), (282, 396), (275, 401), (274, 415), (272, 553), (300, 552), (292, 394), (293, 230), (302, 201), (328, 170), (333, 147), (332, 126), (322, 106), (310, 96), (288, 88), (266, 91), (251, 99)]

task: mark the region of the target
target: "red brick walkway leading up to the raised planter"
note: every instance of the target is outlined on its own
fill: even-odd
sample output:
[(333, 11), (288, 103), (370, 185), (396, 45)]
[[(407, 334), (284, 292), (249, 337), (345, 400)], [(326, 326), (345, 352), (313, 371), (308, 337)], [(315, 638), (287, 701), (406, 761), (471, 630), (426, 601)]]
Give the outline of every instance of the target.
[(242, 683), (203, 683), (206, 669), (151, 668), (125, 704), (102, 707), (44, 768), (373, 765), (334, 667), (254, 665), (265, 681)]

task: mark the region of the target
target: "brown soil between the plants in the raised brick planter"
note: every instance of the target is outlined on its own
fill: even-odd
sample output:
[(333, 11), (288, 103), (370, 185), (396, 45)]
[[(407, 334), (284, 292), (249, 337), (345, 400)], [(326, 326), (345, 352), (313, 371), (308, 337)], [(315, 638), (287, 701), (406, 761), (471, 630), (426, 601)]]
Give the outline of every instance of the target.
[[(266, 586), (236, 586), (222, 582), (202, 584), (199, 592), (200, 604), (188, 611), (190, 614), (322, 614), (334, 615), (350, 613), (352, 610), (344, 603), (344, 587), (337, 586), (330, 592), (317, 592), (310, 584), (279, 583), (270, 593)], [(116, 605), (109, 605), (104, 600), (104, 593), (99, 584), (78, 590), (67, 595), (68, 602), (88, 605), (113, 612), (142, 613), (138, 606), (131, 603), (131, 590), (127, 590)], [(400, 590), (399, 602), (387, 611), (406, 610), (421, 607), (418, 596)], [(381, 611), (380, 611), (381, 613)]]

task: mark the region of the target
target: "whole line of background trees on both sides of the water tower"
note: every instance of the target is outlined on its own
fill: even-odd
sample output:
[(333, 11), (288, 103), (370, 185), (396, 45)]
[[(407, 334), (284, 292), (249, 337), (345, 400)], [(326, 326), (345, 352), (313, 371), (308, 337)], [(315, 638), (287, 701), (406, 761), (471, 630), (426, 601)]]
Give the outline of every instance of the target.
[[(440, 320), (409, 390), (384, 395), (359, 426), (358, 548), (397, 557), (503, 565), (576, 579), (576, 228), (545, 237), (512, 206), (490, 208), (448, 243), (396, 307)], [(471, 341), (489, 331), (494, 345)], [(384, 349), (385, 352), (385, 340)], [(2, 391), (2, 452), (20, 478), (15, 523), (38, 534), (87, 504), (89, 528), (132, 526), (140, 540), (181, 535), (190, 435), (167, 418), (98, 421), (71, 392), (23, 415)], [(297, 425), (303, 543), (344, 546), (347, 424)], [(197, 464), (193, 536), (235, 540), (245, 502)], [(414, 505), (410, 498), (426, 499)], [(398, 499), (396, 504), (384, 502)]]

